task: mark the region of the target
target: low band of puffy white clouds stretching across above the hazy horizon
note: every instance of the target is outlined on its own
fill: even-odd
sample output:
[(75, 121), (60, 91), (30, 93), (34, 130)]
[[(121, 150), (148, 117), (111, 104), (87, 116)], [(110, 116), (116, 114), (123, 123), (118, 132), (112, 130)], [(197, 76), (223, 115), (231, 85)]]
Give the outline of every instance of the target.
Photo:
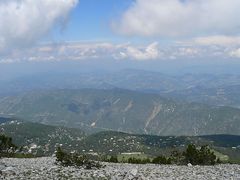
[(165, 61), (240, 58), (240, 48), (237, 46), (230, 48), (228, 46), (190, 44), (182, 43), (173, 46), (161, 46), (157, 42), (146, 45), (106, 42), (42, 44), (32, 48), (15, 50), (14, 53), (2, 56), (0, 64), (91, 60)]

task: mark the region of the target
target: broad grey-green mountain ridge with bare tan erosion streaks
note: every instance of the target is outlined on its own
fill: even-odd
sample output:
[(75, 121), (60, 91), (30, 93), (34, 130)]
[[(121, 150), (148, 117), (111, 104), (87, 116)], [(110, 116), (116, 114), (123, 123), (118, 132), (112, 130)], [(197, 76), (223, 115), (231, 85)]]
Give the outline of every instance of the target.
[(240, 110), (122, 89), (52, 90), (5, 97), (0, 113), (48, 125), (152, 135), (240, 135)]

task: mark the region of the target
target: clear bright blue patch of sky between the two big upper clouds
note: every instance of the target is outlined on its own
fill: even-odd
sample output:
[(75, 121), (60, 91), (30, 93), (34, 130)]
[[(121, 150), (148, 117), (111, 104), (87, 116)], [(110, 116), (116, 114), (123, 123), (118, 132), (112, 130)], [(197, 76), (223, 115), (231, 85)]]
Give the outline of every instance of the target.
[(57, 38), (67, 41), (118, 41), (111, 22), (132, 0), (81, 0), (70, 15), (68, 26)]

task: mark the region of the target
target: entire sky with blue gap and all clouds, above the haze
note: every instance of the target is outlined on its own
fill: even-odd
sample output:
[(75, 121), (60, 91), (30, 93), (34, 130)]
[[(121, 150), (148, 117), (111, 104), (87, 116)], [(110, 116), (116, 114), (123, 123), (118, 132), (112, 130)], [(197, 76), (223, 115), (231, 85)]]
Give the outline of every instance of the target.
[(0, 66), (238, 62), (239, 0), (0, 0)]

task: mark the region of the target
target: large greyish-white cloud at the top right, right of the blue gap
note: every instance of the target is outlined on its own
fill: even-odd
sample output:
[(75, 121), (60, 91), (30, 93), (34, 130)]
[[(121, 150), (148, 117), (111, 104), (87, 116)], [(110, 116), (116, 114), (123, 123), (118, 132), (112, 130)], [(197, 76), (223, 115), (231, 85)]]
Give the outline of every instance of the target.
[(136, 0), (113, 27), (125, 35), (235, 35), (239, 8), (239, 0)]

